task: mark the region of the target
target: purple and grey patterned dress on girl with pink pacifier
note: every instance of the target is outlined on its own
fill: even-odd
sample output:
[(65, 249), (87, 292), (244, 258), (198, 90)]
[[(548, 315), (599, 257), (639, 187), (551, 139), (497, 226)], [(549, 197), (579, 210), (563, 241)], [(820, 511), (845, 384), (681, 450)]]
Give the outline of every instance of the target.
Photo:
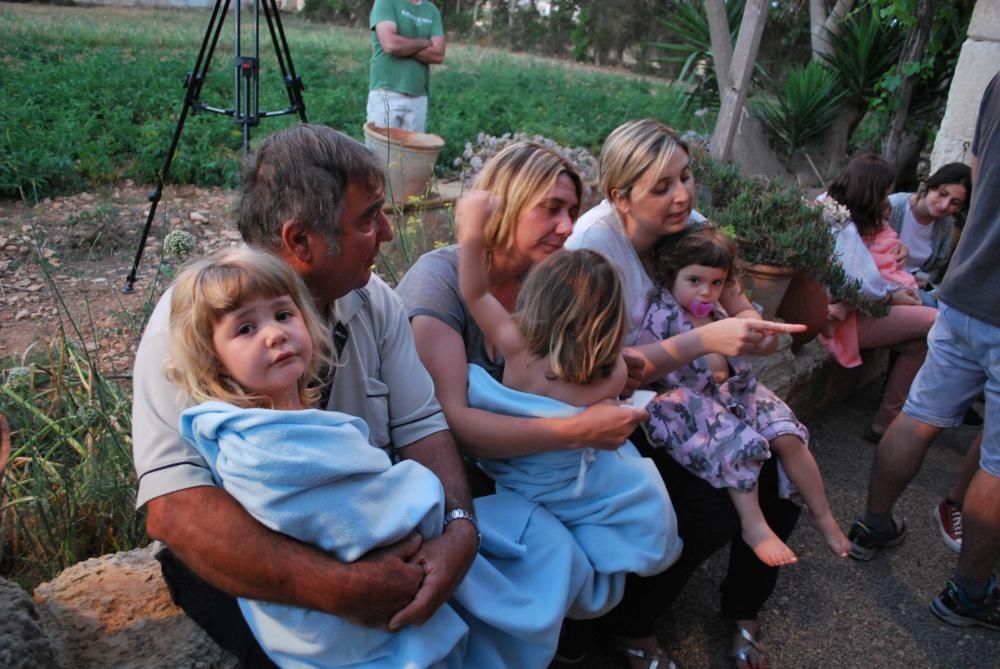
[[(716, 305), (713, 318), (725, 317)], [(693, 328), (670, 291), (662, 289), (650, 301), (638, 343), (661, 341)], [(658, 381), (660, 394), (646, 407), (646, 435), (654, 447), (666, 449), (712, 486), (750, 491), (771, 457), (768, 442), (793, 434), (808, 444), (809, 431), (781, 398), (757, 382), (747, 359), (727, 360), (731, 373), (721, 385), (712, 379), (704, 357)], [(795, 493), (779, 463), (779, 494), (788, 498)]]

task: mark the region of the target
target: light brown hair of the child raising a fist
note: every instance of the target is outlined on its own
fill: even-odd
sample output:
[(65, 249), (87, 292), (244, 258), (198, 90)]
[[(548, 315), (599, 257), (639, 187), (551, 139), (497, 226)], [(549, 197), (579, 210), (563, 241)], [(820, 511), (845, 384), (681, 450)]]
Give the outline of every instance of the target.
[(596, 251), (561, 249), (535, 265), (516, 317), (531, 354), (549, 359), (549, 378), (590, 383), (618, 364), (625, 296), (617, 270)]

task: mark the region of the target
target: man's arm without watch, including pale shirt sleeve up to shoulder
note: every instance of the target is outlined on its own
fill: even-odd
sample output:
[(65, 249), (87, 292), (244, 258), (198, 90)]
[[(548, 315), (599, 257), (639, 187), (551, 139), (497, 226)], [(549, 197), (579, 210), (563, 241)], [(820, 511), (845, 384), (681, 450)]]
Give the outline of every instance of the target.
[(170, 355), (168, 291), (136, 351), (132, 444), (139, 504), (149, 535), (190, 569), (235, 596), (313, 608), (372, 627), (413, 598), (423, 570), (406, 564), (418, 537), (343, 564), (275, 533), (212, 484), (207, 463), (181, 437), (177, 387), (163, 374)]

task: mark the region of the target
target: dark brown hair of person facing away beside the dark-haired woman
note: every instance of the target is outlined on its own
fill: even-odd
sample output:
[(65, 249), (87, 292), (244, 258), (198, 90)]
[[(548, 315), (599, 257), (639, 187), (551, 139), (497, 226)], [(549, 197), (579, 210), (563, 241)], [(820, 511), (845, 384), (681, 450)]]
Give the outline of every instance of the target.
[(827, 195), (850, 210), (862, 237), (874, 237), (882, 229), (882, 208), (895, 181), (892, 165), (874, 153), (862, 153), (847, 163)]

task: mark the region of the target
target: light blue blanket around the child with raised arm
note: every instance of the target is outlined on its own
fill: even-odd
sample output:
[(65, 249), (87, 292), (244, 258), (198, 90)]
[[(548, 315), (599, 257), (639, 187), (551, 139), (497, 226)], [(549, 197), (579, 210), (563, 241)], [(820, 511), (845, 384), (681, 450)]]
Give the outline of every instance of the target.
[[(469, 365), (469, 406), (513, 416), (561, 417), (580, 411), (559, 400), (513, 390), (478, 365)], [(680, 557), (677, 518), (652, 460), (629, 442), (617, 451), (581, 448), (534, 453), (480, 467), (497, 490), (516, 492), (554, 514), (573, 534), (598, 573), (602, 588), (619, 599), (625, 575), (656, 574)], [(589, 603), (574, 608), (584, 617)]]

